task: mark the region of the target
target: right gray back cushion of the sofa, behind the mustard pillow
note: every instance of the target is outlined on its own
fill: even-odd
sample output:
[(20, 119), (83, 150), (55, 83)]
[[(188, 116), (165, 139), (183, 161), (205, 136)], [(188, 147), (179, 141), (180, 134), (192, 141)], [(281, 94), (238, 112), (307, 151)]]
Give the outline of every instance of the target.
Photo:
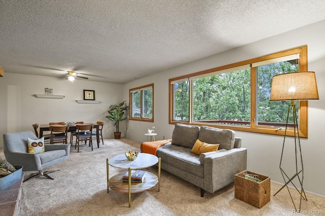
[(219, 144), (219, 149), (231, 150), (235, 144), (235, 131), (202, 126), (199, 139), (206, 143)]

